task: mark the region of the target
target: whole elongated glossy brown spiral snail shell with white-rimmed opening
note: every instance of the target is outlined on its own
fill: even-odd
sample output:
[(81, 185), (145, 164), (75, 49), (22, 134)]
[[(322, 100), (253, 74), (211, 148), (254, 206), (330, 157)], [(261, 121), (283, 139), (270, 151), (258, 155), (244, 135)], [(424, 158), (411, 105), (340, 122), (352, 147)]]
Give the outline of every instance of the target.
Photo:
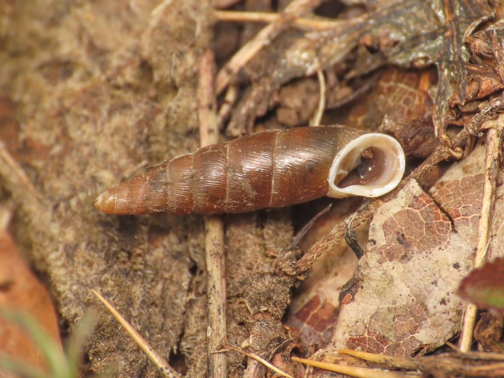
[(107, 214), (219, 214), (329, 196), (378, 197), (401, 180), (392, 137), (341, 125), (252, 134), (159, 164), (103, 192)]

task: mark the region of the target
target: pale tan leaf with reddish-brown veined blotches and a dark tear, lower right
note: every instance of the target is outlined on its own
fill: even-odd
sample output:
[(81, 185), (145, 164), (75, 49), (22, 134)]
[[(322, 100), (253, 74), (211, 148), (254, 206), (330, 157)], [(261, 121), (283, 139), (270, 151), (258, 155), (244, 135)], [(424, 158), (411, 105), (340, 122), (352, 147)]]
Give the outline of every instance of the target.
[[(326, 351), (360, 348), (409, 356), (458, 332), (464, 302), (455, 292), (472, 267), (484, 156), (481, 141), (437, 181), (432, 198), (410, 181), (381, 206)], [(502, 255), (503, 191), (497, 187), (489, 258)]]

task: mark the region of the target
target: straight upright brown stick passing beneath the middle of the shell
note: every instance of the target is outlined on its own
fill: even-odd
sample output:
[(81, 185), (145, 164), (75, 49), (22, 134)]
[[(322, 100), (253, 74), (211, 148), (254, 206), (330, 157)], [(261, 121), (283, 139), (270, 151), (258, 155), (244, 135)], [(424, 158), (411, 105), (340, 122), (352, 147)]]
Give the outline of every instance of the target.
[[(215, 115), (214, 70), (214, 55), (211, 49), (207, 49), (200, 63), (198, 81), (198, 117), (202, 147), (217, 143), (219, 137)], [(227, 344), (224, 226), (221, 218), (206, 216), (205, 233), (208, 295), (208, 377), (226, 378), (226, 354), (214, 353)]]

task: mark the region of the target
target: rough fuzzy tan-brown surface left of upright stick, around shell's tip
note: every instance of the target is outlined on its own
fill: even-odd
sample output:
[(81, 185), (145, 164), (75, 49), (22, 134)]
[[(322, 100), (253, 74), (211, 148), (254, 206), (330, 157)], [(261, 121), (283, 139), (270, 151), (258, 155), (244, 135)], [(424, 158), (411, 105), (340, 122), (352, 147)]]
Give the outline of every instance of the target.
[[(187, 255), (203, 253), (203, 225), (199, 219), (105, 219), (90, 200), (147, 161), (198, 147), (194, 61), (208, 47), (211, 9), (201, 1), (169, 3), (162, 17), (152, 18), (153, 7), (134, 11), (128, 2), (57, 0), (48, 8), (24, 3), (0, 12), (6, 25), (0, 86), (23, 121), (15, 142), (7, 143), (17, 168), (0, 163), (3, 187), (17, 206), (13, 229), (20, 249), (44, 276), (69, 327), (95, 305), (89, 289), (96, 288), (163, 356), (176, 350), (193, 316), (184, 318), (193, 280)], [(172, 12), (176, 22), (166, 16)], [(140, 51), (142, 36), (148, 43)], [(167, 66), (157, 64), (164, 47), (167, 55), (184, 51), (173, 55), (170, 83)], [(25, 172), (40, 196), (16, 171)], [(100, 315), (87, 350), (89, 368), (114, 360), (118, 376), (155, 376), (115, 320), (106, 311)]]

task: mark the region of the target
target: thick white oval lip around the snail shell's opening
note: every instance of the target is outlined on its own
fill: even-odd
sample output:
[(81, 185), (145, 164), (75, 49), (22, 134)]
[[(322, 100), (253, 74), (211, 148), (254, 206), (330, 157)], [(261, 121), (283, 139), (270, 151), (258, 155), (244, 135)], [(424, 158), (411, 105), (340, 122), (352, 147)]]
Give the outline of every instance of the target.
[[(383, 175), (366, 185), (350, 185), (343, 188), (338, 187), (334, 183), (338, 173), (347, 172), (347, 170), (342, 167), (342, 164), (346, 161), (353, 161), (355, 162), (354, 167), (357, 166), (360, 160), (360, 153), (369, 147), (380, 149), (384, 153), (386, 170)], [(403, 178), (405, 167), (406, 159), (404, 157), (404, 151), (400, 143), (394, 138), (380, 133), (361, 135), (348, 143), (335, 156), (329, 170), (329, 191), (327, 196), (332, 198), (383, 196), (399, 184)]]

